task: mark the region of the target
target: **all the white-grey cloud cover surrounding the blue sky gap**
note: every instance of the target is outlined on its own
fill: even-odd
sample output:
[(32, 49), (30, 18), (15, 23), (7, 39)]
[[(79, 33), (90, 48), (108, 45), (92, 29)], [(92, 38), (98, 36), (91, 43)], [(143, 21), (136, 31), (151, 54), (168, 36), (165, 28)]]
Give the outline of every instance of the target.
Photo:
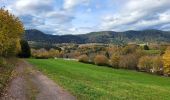
[(53, 5), (55, 0), (13, 0), (7, 8), (21, 18), (26, 28), (37, 28), (48, 34), (170, 28), (169, 0), (113, 0), (123, 5), (119, 12), (103, 14), (101, 23), (95, 27), (74, 26), (74, 8), (79, 5), (88, 6), (91, 1), (64, 0), (63, 6), (56, 9)]

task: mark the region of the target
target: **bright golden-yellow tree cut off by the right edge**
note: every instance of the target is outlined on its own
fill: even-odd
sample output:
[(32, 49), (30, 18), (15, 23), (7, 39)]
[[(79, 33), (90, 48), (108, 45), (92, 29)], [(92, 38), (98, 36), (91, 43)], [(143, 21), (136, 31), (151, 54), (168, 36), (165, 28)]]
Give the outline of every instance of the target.
[(163, 65), (164, 74), (170, 76), (170, 47), (167, 48), (163, 55)]

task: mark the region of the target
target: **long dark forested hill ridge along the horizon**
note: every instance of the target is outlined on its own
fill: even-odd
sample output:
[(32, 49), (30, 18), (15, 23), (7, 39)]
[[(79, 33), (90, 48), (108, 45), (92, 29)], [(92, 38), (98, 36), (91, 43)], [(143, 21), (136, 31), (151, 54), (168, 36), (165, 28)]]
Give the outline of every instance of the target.
[(49, 35), (39, 30), (26, 30), (24, 39), (45, 43), (167, 43), (170, 42), (170, 31), (101, 31), (82, 35)]

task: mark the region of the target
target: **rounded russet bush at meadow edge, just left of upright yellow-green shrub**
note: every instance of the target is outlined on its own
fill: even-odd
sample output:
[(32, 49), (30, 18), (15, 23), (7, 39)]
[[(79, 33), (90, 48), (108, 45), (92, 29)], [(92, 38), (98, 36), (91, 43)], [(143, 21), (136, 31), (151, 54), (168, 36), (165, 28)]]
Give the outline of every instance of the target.
[(94, 58), (94, 63), (99, 66), (108, 65), (108, 58), (104, 55), (97, 55)]

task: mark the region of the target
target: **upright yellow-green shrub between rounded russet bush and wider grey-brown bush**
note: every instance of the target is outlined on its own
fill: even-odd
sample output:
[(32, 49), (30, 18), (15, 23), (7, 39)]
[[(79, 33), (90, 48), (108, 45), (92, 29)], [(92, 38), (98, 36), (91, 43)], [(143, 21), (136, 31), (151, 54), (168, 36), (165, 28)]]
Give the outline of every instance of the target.
[(118, 68), (119, 67), (120, 56), (112, 55), (110, 59), (110, 65), (112, 67)]

